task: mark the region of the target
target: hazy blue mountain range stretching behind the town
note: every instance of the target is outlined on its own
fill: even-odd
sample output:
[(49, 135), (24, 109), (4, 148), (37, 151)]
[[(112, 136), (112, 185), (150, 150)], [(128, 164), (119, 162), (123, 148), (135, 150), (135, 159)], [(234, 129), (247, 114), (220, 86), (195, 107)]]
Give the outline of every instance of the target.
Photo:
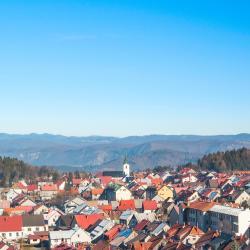
[(148, 135), (124, 138), (52, 134), (0, 134), (0, 155), (32, 165), (100, 171), (120, 169), (125, 156), (132, 169), (173, 167), (196, 162), (205, 154), (250, 148), (250, 134)]

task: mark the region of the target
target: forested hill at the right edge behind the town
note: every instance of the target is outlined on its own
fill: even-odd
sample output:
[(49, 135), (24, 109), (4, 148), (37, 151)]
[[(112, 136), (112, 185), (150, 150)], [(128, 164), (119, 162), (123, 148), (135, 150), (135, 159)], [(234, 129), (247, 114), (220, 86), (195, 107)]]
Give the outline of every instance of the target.
[(250, 150), (242, 148), (205, 155), (198, 161), (198, 168), (218, 172), (250, 170)]

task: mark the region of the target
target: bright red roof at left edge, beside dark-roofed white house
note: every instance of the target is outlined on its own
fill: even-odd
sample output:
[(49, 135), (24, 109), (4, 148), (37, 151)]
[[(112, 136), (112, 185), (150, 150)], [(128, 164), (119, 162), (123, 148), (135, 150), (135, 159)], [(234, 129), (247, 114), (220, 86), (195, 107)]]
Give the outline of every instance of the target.
[(0, 232), (22, 231), (22, 216), (0, 216)]

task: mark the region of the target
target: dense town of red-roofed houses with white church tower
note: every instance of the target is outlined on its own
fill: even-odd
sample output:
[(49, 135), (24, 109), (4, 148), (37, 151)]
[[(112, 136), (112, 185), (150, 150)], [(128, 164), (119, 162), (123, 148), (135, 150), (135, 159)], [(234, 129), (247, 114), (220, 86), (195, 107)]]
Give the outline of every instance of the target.
[(1, 188), (0, 249), (249, 249), (249, 171), (120, 169)]

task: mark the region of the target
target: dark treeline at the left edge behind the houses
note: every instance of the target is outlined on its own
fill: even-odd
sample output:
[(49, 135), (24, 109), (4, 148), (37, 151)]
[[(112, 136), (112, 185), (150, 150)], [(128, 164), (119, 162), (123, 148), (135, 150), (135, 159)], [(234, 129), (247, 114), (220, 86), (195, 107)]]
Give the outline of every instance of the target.
[(0, 157), (1, 187), (9, 187), (20, 179), (30, 181), (42, 176), (52, 176), (56, 180), (59, 177), (59, 173), (50, 167), (34, 167), (15, 158)]

